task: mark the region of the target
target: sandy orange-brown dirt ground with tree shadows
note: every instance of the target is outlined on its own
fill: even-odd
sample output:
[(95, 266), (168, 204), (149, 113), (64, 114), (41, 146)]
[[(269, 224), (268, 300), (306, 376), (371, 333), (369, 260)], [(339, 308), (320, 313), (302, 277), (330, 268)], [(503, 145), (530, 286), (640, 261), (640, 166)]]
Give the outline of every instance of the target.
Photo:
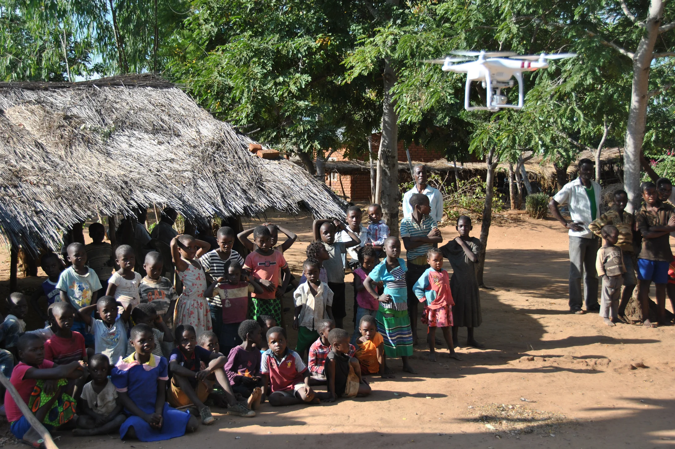
[[(268, 216), (298, 233), (287, 258), (300, 274), (311, 240), (308, 217)], [(257, 224), (257, 223), (255, 223)], [(455, 237), (442, 229), (443, 239)], [(475, 229), (473, 235), (478, 235)], [(427, 361), (426, 344), (415, 347), (416, 375), (371, 377), (368, 398), (311, 407), (263, 405), (254, 418), (217, 416), (209, 427), (174, 440), (132, 448), (661, 448), (675, 444), (675, 328), (608, 328), (596, 313), (568, 313), (568, 238), (553, 220), (514, 218), (493, 225), (485, 282), (483, 324), (477, 338), (486, 349), (469, 349), (460, 330), (462, 361)], [(0, 255), (0, 294), (9, 266)], [(447, 264), (447, 261), (446, 261)], [(450, 268), (447, 264), (446, 268)], [(348, 282), (351, 275), (347, 277)], [(41, 278), (19, 279), (32, 291)], [(353, 290), (346, 328), (352, 332)], [(290, 307), (290, 295), (285, 299)], [(670, 305), (668, 306), (670, 308)], [(286, 322), (292, 312), (286, 313)], [(34, 328), (38, 320), (28, 320)], [(425, 335), (421, 323), (418, 334)], [(440, 335), (439, 335), (440, 336)], [(290, 332), (292, 345), (295, 334)], [(214, 409), (215, 413), (222, 410)], [(119, 436), (73, 438), (56, 433), (61, 448), (108, 449)], [(122, 447), (124, 447), (122, 446)]]

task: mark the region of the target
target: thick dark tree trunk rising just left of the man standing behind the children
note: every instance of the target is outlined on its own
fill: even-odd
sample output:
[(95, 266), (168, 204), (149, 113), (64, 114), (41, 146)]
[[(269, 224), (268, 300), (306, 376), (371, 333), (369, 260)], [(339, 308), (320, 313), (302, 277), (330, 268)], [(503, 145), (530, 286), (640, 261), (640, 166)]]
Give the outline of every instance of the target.
[(381, 206), (384, 220), (389, 226), (389, 235), (398, 237), (398, 114), (394, 110), (396, 100), (392, 98), (398, 75), (391, 59), (384, 60), (384, 99), (382, 104), (382, 139), (379, 160), (381, 173)]

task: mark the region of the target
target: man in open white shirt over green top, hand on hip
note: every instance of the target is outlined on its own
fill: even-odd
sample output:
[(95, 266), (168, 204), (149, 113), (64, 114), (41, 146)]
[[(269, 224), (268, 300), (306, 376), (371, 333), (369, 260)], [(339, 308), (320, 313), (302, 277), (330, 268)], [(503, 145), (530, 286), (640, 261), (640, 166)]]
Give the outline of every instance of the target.
[[(584, 313), (581, 309), (581, 272), (584, 276), (584, 299), (586, 311), (599, 311), (597, 302), (597, 271), (595, 260), (599, 247), (598, 237), (589, 229), (589, 224), (600, 216), (600, 185), (591, 180), (593, 161), (581, 159), (578, 162), (578, 178), (565, 184), (549, 202), (551, 214), (570, 235), (570, 311)], [(567, 205), (572, 221), (560, 214), (558, 206)]]

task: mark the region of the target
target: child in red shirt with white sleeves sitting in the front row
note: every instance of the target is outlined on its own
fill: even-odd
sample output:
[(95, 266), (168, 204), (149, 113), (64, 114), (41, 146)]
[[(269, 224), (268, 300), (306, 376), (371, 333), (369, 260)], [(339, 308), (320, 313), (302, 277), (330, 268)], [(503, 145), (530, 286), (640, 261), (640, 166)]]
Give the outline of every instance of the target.
[(319, 398), (309, 386), (309, 370), (298, 353), (288, 349), (286, 329), (267, 331), (269, 349), (263, 354), (260, 372), (269, 405), (318, 404)]

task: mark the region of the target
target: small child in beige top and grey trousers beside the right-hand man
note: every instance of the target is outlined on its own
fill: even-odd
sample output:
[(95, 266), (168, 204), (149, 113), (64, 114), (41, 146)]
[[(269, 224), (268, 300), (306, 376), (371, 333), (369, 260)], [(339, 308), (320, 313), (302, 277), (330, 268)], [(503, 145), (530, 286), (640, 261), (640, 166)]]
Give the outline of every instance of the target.
[[(619, 230), (612, 225), (605, 225), (601, 230), (602, 246), (597, 250), (595, 269), (602, 278), (602, 294), (600, 297), (600, 316), (607, 326), (616, 326), (618, 322), (619, 298), (624, 283), (624, 258), (620, 247)], [(610, 318), (611, 316), (611, 318)]]

